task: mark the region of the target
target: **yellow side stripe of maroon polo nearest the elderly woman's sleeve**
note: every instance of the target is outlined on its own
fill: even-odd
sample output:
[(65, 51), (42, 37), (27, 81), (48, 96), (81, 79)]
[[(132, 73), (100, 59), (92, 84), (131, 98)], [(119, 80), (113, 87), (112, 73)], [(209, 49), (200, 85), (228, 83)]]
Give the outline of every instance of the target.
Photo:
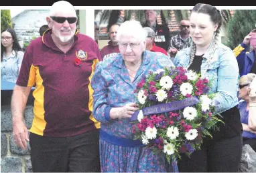
[[(94, 74), (94, 70), (95, 70), (95, 67), (96, 67), (96, 64), (99, 62), (99, 59), (94, 59), (93, 60), (93, 63), (92, 63), (92, 73), (90, 74), (89, 76), (89, 81), (91, 82), (92, 81), (92, 75)], [(88, 85), (88, 89), (89, 89), (89, 103), (88, 103), (88, 108), (90, 110), (90, 112), (92, 112), (92, 106), (93, 106), (93, 98), (92, 98), (92, 94), (93, 94), (93, 90), (92, 90), (92, 86)], [(90, 114), (90, 120), (92, 120), (94, 122), (94, 126), (96, 128), (101, 128), (101, 123), (100, 122), (97, 122), (97, 120), (95, 120), (95, 118), (93, 117), (92, 113)]]

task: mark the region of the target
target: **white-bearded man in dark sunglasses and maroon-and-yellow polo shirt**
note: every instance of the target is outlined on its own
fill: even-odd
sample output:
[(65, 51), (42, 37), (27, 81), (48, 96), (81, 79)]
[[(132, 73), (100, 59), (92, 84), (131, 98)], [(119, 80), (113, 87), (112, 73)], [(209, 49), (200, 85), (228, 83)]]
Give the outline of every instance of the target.
[[(67, 1), (54, 3), (46, 21), (50, 29), (27, 47), (13, 90), (13, 140), (21, 149), (29, 141), (34, 172), (99, 172), (100, 124), (92, 115), (90, 86), (101, 59), (98, 45), (78, 33)], [(35, 84), (28, 135), (23, 112)]]

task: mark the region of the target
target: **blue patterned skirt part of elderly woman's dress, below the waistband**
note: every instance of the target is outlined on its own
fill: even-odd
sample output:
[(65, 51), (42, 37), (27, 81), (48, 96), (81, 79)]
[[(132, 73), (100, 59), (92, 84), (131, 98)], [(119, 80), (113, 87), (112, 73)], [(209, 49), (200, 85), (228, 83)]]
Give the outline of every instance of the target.
[(177, 162), (168, 164), (163, 153), (154, 154), (151, 148), (99, 142), (101, 172), (178, 172)]

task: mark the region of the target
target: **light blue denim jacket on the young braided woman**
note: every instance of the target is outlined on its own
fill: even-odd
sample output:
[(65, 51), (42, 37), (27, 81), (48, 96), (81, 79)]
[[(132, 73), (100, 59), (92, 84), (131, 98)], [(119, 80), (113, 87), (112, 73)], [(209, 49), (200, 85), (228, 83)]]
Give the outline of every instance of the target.
[[(191, 47), (188, 47), (177, 53), (174, 59), (176, 67), (188, 67), (190, 49)], [(210, 63), (207, 63), (210, 58), (209, 49), (203, 55), (201, 75), (209, 79), (210, 93), (216, 93), (213, 105), (217, 113), (222, 113), (239, 104), (237, 98), (239, 67), (233, 51), (221, 43), (214, 51)]]

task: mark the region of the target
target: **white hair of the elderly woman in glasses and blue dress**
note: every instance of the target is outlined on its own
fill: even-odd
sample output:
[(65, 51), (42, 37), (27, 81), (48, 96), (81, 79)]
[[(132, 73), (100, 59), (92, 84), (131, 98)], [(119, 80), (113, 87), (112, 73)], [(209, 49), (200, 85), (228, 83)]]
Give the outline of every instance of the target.
[(120, 41), (123, 36), (131, 36), (135, 39), (145, 41), (147, 32), (141, 26), (139, 21), (131, 20), (122, 23), (117, 31), (117, 40)]

